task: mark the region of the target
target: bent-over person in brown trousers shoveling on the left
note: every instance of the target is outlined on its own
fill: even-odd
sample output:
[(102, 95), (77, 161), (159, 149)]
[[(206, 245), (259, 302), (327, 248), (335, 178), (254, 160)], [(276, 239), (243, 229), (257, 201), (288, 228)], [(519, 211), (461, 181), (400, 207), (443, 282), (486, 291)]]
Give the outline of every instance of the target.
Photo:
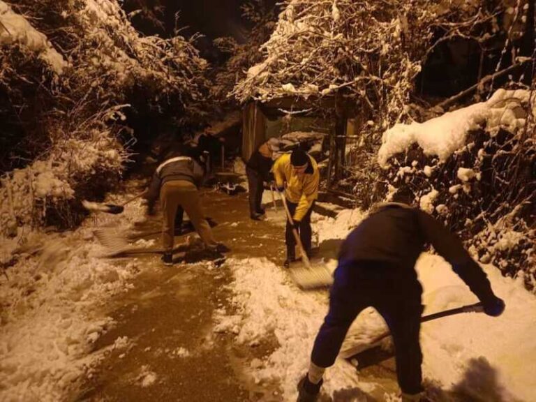
[(186, 156), (184, 149), (177, 147), (168, 151), (151, 179), (147, 199), (147, 212), (154, 214), (156, 200), (160, 198), (162, 209), (162, 257), (164, 265), (172, 265), (174, 227), (177, 209), (186, 211), (193, 227), (209, 251), (221, 252), (228, 248), (214, 239), (209, 223), (204, 218), (198, 187), (205, 171), (202, 161)]

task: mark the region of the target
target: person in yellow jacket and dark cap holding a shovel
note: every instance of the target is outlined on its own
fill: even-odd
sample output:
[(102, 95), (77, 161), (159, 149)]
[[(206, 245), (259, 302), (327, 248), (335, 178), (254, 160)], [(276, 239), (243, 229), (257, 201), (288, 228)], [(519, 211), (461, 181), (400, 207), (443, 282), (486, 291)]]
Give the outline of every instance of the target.
[[(281, 193), (286, 191), (288, 209), (294, 221), (294, 227), (299, 232), (301, 244), (307, 255), (311, 255), (311, 212), (318, 198), (318, 184), (320, 174), (316, 161), (303, 149), (295, 149), (292, 154), (280, 156), (272, 168), (276, 180), (277, 190)], [(287, 220), (285, 230), (285, 242), (287, 244), (287, 258), (285, 268), (290, 262), (296, 260), (296, 240), (292, 235), (292, 225)]]

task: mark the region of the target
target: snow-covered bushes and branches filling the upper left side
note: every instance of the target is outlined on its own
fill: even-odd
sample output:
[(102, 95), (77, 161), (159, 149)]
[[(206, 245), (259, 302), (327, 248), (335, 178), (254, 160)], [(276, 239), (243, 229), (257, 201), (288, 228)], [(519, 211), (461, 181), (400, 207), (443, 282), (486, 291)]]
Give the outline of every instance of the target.
[(120, 177), (126, 112), (198, 117), (205, 66), (181, 36), (142, 36), (117, 0), (0, 0), (2, 234), (77, 223)]

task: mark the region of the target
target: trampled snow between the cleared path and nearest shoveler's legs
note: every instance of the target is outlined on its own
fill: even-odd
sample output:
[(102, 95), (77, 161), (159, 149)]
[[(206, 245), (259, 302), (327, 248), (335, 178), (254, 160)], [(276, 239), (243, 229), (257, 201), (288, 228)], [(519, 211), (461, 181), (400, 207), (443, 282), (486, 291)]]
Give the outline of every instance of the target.
[[(307, 371), (314, 338), (327, 313), (327, 292), (300, 292), (287, 274), (265, 258), (230, 260), (226, 264), (234, 274), (231, 287), (236, 311), (229, 316), (227, 311), (216, 313), (214, 319), (223, 324), (218, 331), (227, 329), (236, 334), (238, 343), (252, 346), (275, 336), (279, 348), (251, 364), (251, 375), (255, 383), (281, 381), (283, 400), (295, 400), (296, 384)], [(327, 373), (326, 391), (348, 385), (353, 372), (355, 368), (350, 364), (335, 366)]]

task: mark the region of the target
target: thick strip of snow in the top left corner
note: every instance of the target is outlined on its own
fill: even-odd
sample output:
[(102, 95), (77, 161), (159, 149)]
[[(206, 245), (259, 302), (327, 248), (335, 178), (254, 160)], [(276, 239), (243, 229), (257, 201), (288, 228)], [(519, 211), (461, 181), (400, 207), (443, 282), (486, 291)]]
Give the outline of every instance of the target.
[(38, 53), (39, 58), (58, 75), (68, 66), (45, 34), (37, 31), (23, 15), (14, 13), (10, 6), (0, 0), (0, 46), (13, 43), (19, 43), (31, 52)]

